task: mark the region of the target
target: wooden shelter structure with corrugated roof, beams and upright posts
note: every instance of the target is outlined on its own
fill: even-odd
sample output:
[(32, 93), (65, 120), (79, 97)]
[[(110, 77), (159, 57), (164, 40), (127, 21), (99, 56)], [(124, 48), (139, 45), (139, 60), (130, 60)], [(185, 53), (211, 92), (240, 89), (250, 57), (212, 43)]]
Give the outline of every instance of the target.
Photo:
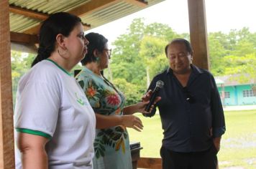
[[(15, 168), (11, 42), (37, 44), (40, 23), (58, 11), (80, 16), (88, 30), (161, 1), (165, 0), (0, 0), (0, 168)], [(209, 69), (205, 0), (188, 0), (188, 14), (193, 63)]]

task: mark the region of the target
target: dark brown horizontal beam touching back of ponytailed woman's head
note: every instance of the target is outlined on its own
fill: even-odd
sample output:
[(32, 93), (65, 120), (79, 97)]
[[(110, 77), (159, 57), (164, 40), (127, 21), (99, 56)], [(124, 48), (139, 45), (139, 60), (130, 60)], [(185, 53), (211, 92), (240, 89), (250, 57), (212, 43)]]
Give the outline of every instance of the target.
[(11, 32), (11, 42), (17, 42), (22, 44), (38, 44), (38, 37), (37, 35), (32, 34), (23, 34), (23, 33), (16, 33)]

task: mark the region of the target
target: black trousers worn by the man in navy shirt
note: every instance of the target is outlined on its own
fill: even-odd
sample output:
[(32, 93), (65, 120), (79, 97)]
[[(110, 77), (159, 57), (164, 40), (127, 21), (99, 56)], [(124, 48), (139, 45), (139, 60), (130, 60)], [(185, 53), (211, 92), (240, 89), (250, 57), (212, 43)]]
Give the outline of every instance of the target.
[(218, 165), (217, 150), (214, 145), (209, 150), (195, 153), (177, 153), (162, 146), (163, 169), (216, 169)]

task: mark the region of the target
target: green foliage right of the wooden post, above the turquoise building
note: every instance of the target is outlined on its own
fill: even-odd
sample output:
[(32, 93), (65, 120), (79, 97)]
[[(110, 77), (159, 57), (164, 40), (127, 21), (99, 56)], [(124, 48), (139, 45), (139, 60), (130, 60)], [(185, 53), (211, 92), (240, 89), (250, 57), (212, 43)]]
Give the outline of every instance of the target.
[(237, 81), (256, 83), (256, 34), (248, 28), (209, 34), (211, 72), (217, 76), (239, 74)]

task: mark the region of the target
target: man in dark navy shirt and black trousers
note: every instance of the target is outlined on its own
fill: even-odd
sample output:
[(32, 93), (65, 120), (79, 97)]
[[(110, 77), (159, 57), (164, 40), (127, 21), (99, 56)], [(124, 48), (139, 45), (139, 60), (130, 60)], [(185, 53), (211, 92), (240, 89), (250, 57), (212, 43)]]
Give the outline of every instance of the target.
[[(192, 64), (193, 49), (186, 39), (173, 39), (165, 54), (170, 67), (157, 74), (148, 89), (154, 90), (158, 80), (165, 84), (156, 104), (164, 130), (163, 168), (216, 169), (216, 154), (226, 129), (214, 77)], [(145, 114), (152, 115), (154, 111)]]

